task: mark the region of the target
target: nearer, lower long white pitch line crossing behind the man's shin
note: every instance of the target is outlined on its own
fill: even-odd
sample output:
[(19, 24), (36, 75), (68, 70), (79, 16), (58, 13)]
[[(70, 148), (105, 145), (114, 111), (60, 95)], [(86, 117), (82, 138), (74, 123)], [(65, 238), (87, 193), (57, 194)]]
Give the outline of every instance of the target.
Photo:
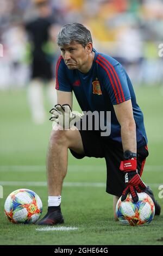
[[(36, 186), (36, 187), (46, 187), (47, 182), (45, 181), (0, 181), (2, 186)], [(150, 187), (159, 187), (161, 183), (148, 183)], [(105, 187), (104, 182), (64, 182), (64, 187)]]

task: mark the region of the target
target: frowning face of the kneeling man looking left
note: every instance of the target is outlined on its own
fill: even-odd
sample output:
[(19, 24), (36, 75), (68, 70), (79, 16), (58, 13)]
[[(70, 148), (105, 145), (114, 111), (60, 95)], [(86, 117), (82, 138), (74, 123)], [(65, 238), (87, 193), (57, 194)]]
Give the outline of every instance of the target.
[(79, 70), (86, 64), (90, 52), (89, 45), (86, 45), (84, 48), (83, 45), (80, 45), (77, 42), (73, 42), (70, 45), (64, 45), (60, 47), (60, 50), (67, 68)]

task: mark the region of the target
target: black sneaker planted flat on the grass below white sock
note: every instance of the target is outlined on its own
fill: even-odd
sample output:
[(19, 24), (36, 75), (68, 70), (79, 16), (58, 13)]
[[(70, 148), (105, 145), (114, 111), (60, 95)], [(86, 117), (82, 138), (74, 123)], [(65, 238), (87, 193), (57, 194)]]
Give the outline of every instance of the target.
[(57, 209), (54, 211), (49, 211), (45, 215), (45, 217), (42, 218), (41, 221), (38, 221), (37, 225), (56, 225), (56, 224), (62, 224), (64, 223), (64, 218), (61, 214), (61, 210)]

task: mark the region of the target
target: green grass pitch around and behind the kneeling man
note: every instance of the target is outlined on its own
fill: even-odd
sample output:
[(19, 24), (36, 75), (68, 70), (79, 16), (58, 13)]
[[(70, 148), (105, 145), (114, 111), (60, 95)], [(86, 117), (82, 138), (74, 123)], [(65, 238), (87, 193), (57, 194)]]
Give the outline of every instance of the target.
[[(143, 110), (148, 136), (149, 157), (143, 181), (151, 185), (156, 199), (163, 184), (163, 119), (162, 94), (158, 87), (136, 89), (137, 102)], [(103, 159), (74, 159), (69, 154), (69, 166), (62, 190), (64, 227), (70, 231), (39, 231), (37, 225), (11, 224), (4, 216), (8, 194), (18, 188), (28, 188), (39, 194), (43, 214), (47, 210), (46, 152), (52, 124), (46, 100), (47, 121), (35, 125), (30, 119), (26, 90), (0, 93), (0, 244), (1, 245), (162, 245), (163, 216), (155, 217), (145, 227), (124, 227), (115, 222), (112, 196), (105, 192), (106, 171)], [(77, 110), (74, 101), (74, 110)], [(14, 183), (15, 181), (15, 183)], [(29, 182), (29, 183), (28, 183)], [(78, 182), (78, 184), (77, 184)], [(162, 238), (161, 238), (162, 237)]]

